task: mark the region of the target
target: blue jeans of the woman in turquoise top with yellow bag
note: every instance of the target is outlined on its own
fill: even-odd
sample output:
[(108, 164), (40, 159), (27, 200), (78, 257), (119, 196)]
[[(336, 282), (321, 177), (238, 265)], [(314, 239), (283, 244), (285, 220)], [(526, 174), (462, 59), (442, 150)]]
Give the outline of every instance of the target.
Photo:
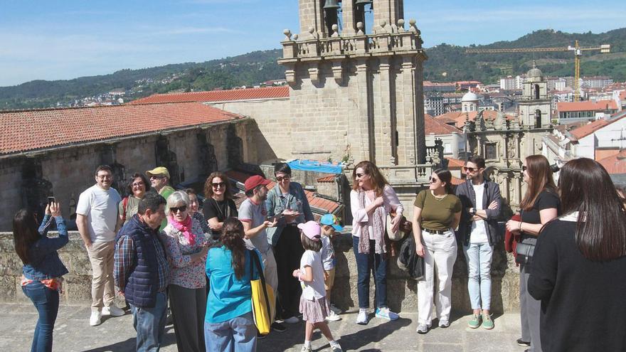
[(257, 350), (257, 327), (252, 312), (221, 323), (204, 322), (206, 352), (254, 352)]

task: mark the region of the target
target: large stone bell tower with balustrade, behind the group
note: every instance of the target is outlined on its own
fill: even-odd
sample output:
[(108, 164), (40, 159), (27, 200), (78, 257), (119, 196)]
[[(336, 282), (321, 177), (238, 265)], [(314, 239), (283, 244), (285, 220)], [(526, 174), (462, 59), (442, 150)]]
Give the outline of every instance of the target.
[(290, 85), (294, 158), (368, 159), (394, 184), (430, 176), (426, 163), (437, 156), (424, 137), (427, 56), (403, 12), (403, 0), (299, 0), (300, 33), (285, 30), (278, 60)]

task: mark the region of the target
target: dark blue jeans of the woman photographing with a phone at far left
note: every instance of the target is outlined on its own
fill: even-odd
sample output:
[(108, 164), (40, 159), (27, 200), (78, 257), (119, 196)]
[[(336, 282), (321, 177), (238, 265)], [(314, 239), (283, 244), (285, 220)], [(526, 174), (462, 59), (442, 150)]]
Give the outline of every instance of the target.
[(31, 352), (52, 351), (52, 332), (58, 314), (58, 291), (48, 289), (39, 281), (22, 286), (22, 291), (39, 312)]

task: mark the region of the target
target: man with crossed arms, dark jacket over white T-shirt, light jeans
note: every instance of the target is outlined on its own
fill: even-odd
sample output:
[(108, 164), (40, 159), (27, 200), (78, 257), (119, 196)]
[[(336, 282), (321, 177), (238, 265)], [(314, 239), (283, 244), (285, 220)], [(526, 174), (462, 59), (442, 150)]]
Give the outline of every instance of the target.
[(467, 289), (473, 309), (467, 325), (476, 329), (482, 320), (482, 327), (490, 330), (494, 328), (489, 315), (491, 263), (494, 244), (499, 240), (497, 218), (502, 198), (497, 183), (484, 178), (484, 159), (480, 156), (468, 159), (463, 170), (467, 179), (456, 191), (463, 205), (457, 238), (463, 243), (467, 260)]

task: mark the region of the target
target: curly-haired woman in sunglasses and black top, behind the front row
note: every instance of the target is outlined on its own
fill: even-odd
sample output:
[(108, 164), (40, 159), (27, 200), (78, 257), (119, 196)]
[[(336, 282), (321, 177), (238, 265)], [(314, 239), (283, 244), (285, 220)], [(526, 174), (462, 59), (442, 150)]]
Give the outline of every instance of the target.
[(220, 171), (209, 175), (204, 183), (204, 196), (206, 197), (202, 208), (204, 218), (208, 220), (208, 226), (213, 230), (213, 239), (217, 240), (222, 233), (224, 220), (238, 216), (228, 177)]

